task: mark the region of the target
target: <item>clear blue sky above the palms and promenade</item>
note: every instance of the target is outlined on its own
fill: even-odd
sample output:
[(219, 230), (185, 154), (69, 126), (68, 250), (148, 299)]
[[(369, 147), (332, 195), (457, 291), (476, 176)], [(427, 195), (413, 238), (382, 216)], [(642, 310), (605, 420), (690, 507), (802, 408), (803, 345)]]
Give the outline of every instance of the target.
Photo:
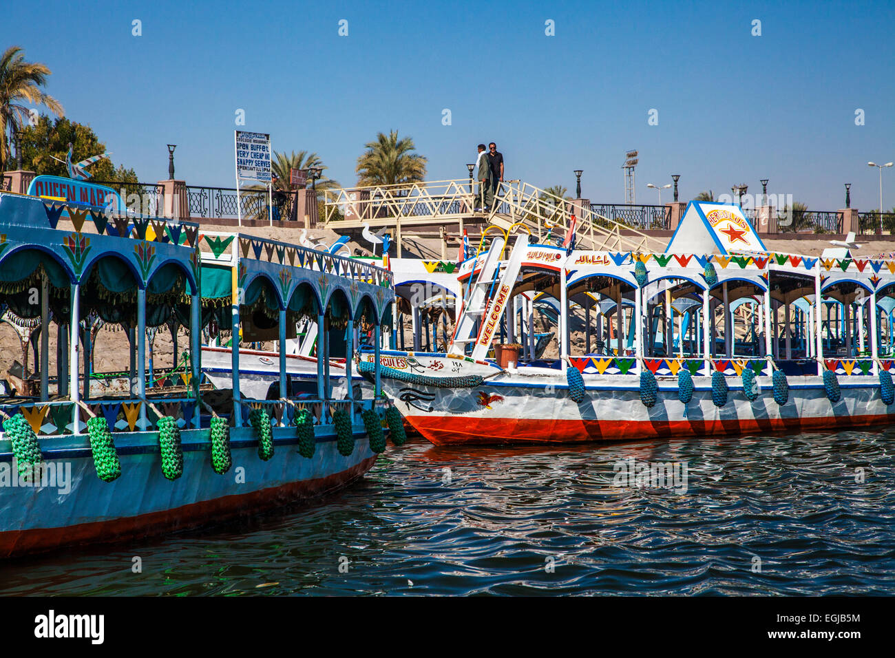
[[(725, 5), (7, 2), (0, 47), (47, 64), (47, 91), (141, 181), (167, 177), (172, 142), (177, 178), (232, 187), (243, 108), (244, 130), (317, 151), (345, 185), (396, 128), (430, 179), (465, 177), (474, 145), (496, 141), (508, 178), (574, 193), (581, 168), (585, 197), (621, 202), (637, 149), (641, 203), (680, 174), (684, 200), (766, 177), (812, 209), (843, 207), (851, 183), (852, 206), (875, 209), (866, 162), (895, 159), (895, 3)], [(895, 167), (883, 194), (895, 206)]]

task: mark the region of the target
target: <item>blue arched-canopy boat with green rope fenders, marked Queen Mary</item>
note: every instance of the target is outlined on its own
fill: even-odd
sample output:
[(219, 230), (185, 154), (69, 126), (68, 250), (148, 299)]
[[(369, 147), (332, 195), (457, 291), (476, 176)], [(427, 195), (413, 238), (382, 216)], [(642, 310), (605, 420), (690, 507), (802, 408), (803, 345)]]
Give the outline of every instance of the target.
[[(375, 325), (379, 338), (391, 324), (391, 283), (384, 269), (293, 244), (200, 234), (114, 204), (0, 193), (0, 304), (41, 329), (35, 395), (0, 399), (0, 557), (251, 516), (361, 477), (385, 448), (394, 413), (384, 397), (334, 397), (329, 339), (316, 391), (244, 397), (239, 337), (250, 314), (266, 315), (281, 343), (289, 323), (311, 317), (344, 329), (350, 377), (354, 322)], [(90, 395), (90, 329), (100, 320), (132, 337), (132, 388), (122, 395)], [(172, 378), (179, 388), (145, 368), (147, 328), (169, 322), (190, 329), (187, 364)], [(232, 396), (217, 404), (202, 396), (200, 341), (212, 326), (237, 337)]]

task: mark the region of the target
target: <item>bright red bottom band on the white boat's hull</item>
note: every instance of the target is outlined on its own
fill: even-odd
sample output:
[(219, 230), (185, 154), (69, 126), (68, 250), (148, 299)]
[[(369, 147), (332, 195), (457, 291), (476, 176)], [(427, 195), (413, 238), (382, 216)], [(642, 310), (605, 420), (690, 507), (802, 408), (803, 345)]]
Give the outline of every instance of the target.
[(407, 422), (436, 445), (575, 443), (759, 432), (810, 432), (891, 423), (891, 416), (747, 418), (716, 421), (596, 421), (415, 415)]

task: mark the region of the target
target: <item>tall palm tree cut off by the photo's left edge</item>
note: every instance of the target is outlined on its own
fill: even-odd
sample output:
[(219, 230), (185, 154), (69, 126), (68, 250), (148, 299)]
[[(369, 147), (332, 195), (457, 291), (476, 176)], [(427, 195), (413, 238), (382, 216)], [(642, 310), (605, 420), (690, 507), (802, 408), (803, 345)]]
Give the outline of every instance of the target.
[(32, 105), (42, 105), (55, 115), (64, 113), (58, 100), (40, 90), (47, 84), (47, 76), (52, 72), (45, 64), (24, 61), (21, 47), (6, 48), (0, 56), (0, 168), (9, 157), (6, 143), (6, 127), (10, 135), (21, 130), (21, 124), (30, 115), (22, 101)]

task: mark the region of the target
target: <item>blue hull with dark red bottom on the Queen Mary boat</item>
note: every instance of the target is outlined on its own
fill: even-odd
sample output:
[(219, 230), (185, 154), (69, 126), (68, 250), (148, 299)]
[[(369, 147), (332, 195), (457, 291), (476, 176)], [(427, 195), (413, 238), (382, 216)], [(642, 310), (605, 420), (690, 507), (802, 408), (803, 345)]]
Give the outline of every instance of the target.
[(334, 435), (319, 435), (307, 458), (298, 453), (294, 428), (274, 428), (268, 461), (260, 459), (251, 432), (231, 429), (233, 467), (217, 474), (209, 430), (183, 431), (183, 475), (174, 481), (162, 474), (156, 432), (115, 433), (122, 475), (112, 483), (99, 480), (83, 436), (41, 440), (50, 473), (45, 486), (17, 482), (14, 474), (11, 479), (12, 457), (0, 454), (6, 484), (0, 487), (0, 558), (252, 517), (344, 487), (376, 461), (366, 434), (357, 430), (350, 456), (337, 451)]

